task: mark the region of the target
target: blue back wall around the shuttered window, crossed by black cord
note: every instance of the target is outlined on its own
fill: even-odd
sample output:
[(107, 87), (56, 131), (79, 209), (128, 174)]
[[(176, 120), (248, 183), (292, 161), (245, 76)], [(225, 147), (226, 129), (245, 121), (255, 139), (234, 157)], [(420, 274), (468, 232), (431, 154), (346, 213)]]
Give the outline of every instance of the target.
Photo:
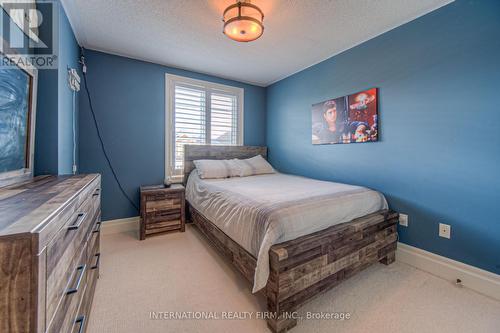
[[(265, 144), (264, 88), (95, 51), (86, 51), (88, 85), (110, 159), (127, 193), (161, 184), (165, 165), (165, 74), (242, 87), (244, 143)], [(80, 172), (102, 174), (103, 220), (137, 216), (120, 193), (101, 152), (86, 93), (80, 98)]]

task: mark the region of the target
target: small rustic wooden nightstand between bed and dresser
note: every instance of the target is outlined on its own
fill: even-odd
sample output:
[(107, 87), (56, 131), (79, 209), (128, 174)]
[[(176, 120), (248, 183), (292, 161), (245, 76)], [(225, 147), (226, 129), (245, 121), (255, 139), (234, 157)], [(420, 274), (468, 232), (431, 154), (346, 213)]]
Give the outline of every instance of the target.
[(141, 186), (141, 240), (171, 231), (185, 230), (184, 186)]

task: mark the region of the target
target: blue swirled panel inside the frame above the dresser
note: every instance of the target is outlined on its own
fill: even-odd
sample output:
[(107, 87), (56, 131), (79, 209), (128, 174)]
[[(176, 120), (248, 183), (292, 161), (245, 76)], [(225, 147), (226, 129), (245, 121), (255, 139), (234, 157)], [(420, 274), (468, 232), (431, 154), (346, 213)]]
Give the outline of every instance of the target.
[(28, 167), (30, 76), (0, 68), (0, 172)]

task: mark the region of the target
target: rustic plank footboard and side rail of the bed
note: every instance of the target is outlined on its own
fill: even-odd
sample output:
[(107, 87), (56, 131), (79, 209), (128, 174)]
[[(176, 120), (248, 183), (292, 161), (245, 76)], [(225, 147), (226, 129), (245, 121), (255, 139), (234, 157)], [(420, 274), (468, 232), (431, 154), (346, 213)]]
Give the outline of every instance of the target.
[[(192, 207), (191, 219), (208, 240), (253, 283), (256, 259)], [(265, 292), (268, 326), (284, 332), (297, 324), (296, 311), (374, 262), (395, 259), (398, 214), (379, 211), (347, 223), (276, 244), (269, 251)]]

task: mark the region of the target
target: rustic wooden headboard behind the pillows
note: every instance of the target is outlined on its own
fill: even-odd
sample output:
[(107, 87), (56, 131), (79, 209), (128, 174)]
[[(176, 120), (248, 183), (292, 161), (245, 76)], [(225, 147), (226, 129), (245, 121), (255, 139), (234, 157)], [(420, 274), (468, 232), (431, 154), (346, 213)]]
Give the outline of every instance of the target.
[(185, 145), (184, 146), (184, 179), (195, 168), (195, 160), (228, 160), (232, 158), (250, 158), (262, 155), (267, 159), (267, 147), (259, 146), (210, 146), (210, 145)]

